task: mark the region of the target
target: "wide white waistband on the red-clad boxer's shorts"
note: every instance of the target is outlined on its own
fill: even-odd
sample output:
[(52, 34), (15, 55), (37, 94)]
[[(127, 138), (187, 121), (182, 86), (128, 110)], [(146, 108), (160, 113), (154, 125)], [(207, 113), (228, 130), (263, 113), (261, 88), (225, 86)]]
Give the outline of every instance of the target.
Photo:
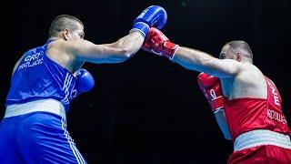
[(238, 151), (262, 145), (274, 145), (291, 149), (291, 141), (288, 135), (266, 129), (252, 130), (239, 135), (235, 140), (234, 149)]

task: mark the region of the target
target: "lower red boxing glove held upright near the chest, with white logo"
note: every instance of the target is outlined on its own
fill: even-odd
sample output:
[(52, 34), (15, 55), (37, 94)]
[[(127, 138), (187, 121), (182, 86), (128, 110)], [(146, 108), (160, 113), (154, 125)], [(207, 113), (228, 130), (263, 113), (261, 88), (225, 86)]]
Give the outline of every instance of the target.
[(202, 72), (198, 75), (197, 82), (214, 113), (224, 108), (225, 97), (221, 90), (219, 78)]

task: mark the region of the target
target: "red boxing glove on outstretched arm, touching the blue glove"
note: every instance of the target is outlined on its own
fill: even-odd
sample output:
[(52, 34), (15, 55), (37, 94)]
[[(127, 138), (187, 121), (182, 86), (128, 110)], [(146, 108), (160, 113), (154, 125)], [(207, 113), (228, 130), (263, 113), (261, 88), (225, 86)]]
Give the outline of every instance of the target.
[(179, 46), (170, 40), (158, 29), (151, 27), (142, 48), (158, 56), (166, 56), (173, 59)]

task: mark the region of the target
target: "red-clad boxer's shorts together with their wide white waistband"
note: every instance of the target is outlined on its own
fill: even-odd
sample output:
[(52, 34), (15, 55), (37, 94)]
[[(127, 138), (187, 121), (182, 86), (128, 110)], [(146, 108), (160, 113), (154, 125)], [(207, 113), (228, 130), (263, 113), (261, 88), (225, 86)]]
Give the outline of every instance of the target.
[(258, 129), (236, 138), (235, 151), (228, 164), (235, 163), (288, 163), (291, 161), (291, 142), (287, 135)]

